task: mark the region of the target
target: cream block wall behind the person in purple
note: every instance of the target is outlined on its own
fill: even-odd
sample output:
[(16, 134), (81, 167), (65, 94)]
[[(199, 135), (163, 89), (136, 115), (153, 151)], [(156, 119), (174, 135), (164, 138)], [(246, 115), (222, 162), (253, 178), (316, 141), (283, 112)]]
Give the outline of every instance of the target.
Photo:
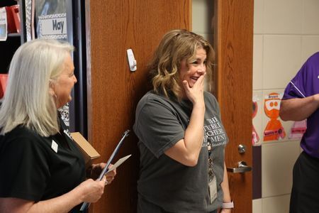
[(253, 99), (259, 111), (253, 119), (262, 146), (262, 197), (253, 213), (289, 212), (293, 164), (300, 153), (298, 139), (289, 138), (293, 122), (281, 121), (286, 136), (263, 141), (269, 121), (264, 97), (282, 94), (303, 62), (319, 51), (318, 0), (254, 0)]

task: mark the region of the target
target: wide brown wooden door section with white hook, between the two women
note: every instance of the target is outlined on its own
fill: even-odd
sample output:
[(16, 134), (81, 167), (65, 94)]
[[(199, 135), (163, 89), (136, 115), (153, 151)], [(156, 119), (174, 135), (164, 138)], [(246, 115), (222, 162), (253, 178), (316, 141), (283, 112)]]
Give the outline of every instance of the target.
[[(107, 160), (123, 131), (132, 129), (135, 107), (148, 89), (146, 65), (162, 35), (189, 29), (190, 0), (86, 0), (89, 141)], [(126, 50), (138, 70), (130, 72)], [(132, 132), (118, 157), (133, 154), (90, 212), (136, 212), (138, 139)]]

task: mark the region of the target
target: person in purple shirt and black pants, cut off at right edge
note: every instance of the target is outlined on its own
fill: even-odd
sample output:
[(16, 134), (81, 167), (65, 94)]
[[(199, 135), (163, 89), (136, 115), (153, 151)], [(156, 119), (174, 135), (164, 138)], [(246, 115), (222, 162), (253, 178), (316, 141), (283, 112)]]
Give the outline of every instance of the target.
[(319, 209), (319, 52), (310, 56), (287, 85), (281, 100), (284, 121), (307, 119), (303, 152), (293, 167), (290, 213)]

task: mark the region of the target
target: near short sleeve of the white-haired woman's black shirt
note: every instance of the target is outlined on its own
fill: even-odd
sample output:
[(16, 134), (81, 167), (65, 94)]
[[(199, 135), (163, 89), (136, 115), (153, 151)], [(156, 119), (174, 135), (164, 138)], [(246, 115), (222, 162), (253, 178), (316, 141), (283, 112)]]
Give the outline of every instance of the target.
[(38, 202), (43, 196), (50, 170), (45, 148), (40, 142), (32, 134), (1, 140), (0, 197)]

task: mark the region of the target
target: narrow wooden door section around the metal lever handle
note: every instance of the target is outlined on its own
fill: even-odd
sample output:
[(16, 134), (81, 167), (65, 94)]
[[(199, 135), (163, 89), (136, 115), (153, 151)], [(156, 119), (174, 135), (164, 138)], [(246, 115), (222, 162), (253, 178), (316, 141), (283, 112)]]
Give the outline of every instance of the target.
[[(230, 142), (228, 168), (239, 161), (252, 165), (252, 38), (253, 0), (216, 0), (217, 98)], [(246, 146), (245, 153), (238, 146)], [(233, 212), (252, 212), (252, 172), (228, 173)]]

